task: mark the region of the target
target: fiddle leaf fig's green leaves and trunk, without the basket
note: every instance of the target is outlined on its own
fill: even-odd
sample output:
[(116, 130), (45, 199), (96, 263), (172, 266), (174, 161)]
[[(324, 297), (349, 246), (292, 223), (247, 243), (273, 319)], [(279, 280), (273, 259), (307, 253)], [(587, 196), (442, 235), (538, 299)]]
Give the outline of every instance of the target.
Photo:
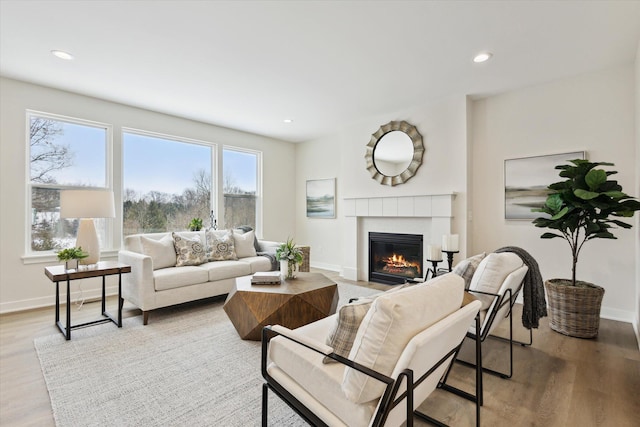
[(555, 182), (547, 188), (551, 193), (542, 208), (532, 209), (549, 217), (533, 220), (536, 227), (549, 228), (542, 239), (560, 237), (571, 247), (573, 264), (571, 284), (576, 286), (576, 265), (582, 246), (593, 239), (616, 239), (611, 228), (631, 228), (631, 224), (618, 218), (631, 218), (640, 210), (640, 202), (622, 191), (618, 181), (610, 180), (617, 171), (605, 171), (599, 166), (614, 166), (613, 163), (571, 160), (572, 164), (559, 165), (564, 181)]

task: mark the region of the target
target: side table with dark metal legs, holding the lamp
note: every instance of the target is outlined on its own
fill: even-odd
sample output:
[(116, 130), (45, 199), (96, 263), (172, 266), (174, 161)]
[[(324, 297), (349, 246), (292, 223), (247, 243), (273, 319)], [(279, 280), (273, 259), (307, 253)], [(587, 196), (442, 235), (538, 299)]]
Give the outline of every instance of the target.
[[(113, 322), (122, 327), (122, 273), (130, 273), (131, 266), (120, 264), (116, 261), (100, 261), (97, 264), (86, 266), (82, 270), (65, 270), (64, 265), (54, 265), (45, 267), (44, 273), (56, 284), (56, 326), (62, 332), (67, 340), (71, 339), (71, 330), (83, 328), (86, 326), (97, 325), (99, 323)], [(106, 309), (106, 277), (118, 275), (118, 317), (114, 318)], [(92, 322), (81, 323), (79, 325), (71, 325), (71, 281), (78, 279), (87, 279), (90, 277), (102, 277), (102, 315), (103, 319), (94, 320)], [(66, 326), (60, 322), (60, 282), (67, 282), (67, 323)]]

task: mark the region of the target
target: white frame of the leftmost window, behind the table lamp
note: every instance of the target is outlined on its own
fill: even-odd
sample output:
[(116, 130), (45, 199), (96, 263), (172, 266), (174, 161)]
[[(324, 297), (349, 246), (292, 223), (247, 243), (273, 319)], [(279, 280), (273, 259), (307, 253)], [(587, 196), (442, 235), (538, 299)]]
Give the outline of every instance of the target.
[[(44, 118), (49, 120), (55, 120), (59, 122), (69, 123), (78, 126), (86, 126), (104, 129), (105, 131), (105, 186), (77, 186), (77, 185), (65, 185), (65, 184), (44, 184), (33, 183), (31, 181), (31, 119), (34, 117)], [(24, 230), (24, 256), (23, 261), (26, 264), (31, 262), (49, 261), (57, 259), (53, 250), (46, 251), (34, 251), (31, 247), (32, 243), (32, 197), (33, 188), (45, 188), (45, 189), (57, 189), (63, 190), (79, 190), (79, 189), (100, 189), (113, 191), (113, 125), (104, 122), (97, 122), (94, 120), (87, 120), (78, 117), (70, 117), (61, 114), (47, 113), (44, 111), (37, 111), (27, 109), (25, 111), (25, 230)], [(117, 219), (117, 218), (116, 218)], [(105, 218), (105, 235), (101, 253), (111, 252), (116, 250), (114, 239), (114, 218)]]

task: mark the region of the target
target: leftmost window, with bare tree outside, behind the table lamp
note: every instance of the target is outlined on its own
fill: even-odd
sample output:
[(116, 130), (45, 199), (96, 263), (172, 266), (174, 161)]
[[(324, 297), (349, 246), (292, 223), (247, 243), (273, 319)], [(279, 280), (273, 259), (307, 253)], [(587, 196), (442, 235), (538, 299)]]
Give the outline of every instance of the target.
[[(29, 209), (27, 252), (73, 246), (79, 219), (60, 218), (60, 191), (110, 187), (111, 128), (108, 125), (27, 111)], [(102, 247), (110, 247), (108, 220), (96, 219)]]

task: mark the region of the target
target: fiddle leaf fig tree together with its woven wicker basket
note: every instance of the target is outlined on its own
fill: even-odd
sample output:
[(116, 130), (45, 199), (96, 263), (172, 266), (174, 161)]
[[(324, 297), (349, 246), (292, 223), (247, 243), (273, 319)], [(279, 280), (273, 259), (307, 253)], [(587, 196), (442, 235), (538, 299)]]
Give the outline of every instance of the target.
[(604, 289), (576, 280), (580, 250), (593, 239), (616, 239), (612, 228), (631, 228), (630, 224), (616, 218), (631, 218), (640, 210), (640, 202), (625, 194), (617, 181), (608, 179), (617, 171), (598, 168), (614, 166), (613, 163), (582, 159), (570, 163), (555, 167), (565, 180), (547, 187), (551, 193), (544, 206), (533, 211), (548, 216), (536, 218), (533, 223), (536, 227), (552, 230), (541, 238), (565, 239), (571, 249), (571, 279), (545, 282), (551, 329), (574, 337), (593, 338), (598, 335)]

